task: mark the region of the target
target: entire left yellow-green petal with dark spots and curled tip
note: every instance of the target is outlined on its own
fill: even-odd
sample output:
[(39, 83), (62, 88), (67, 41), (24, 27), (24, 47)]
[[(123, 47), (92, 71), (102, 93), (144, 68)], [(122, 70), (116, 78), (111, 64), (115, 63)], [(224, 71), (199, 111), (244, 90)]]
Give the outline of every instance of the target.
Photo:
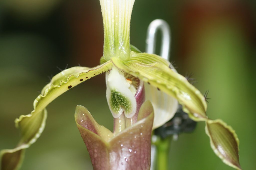
[(43, 95), (39, 95), (35, 99), (34, 110), (30, 114), (21, 115), (19, 119), (15, 120), (16, 127), (20, 129), (21, 139), (16, 148), (1, 151), (1, 170), (18, 169), (23, 160), (23, 151), (20, 150), (26, 149), (36, 142), (44, 130), (47, 118), (45, 108), (50, 102), (74, 86), (111, 68), (112, 63), (109, 61), (94, 68), (73, 67), (54, 76), (51, 82), (43, 88)]

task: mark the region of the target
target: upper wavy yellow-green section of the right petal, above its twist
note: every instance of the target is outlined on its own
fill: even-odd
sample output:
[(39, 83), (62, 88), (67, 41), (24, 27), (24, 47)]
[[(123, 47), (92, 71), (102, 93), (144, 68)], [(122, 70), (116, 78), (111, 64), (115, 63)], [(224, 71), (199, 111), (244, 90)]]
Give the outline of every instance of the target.
[[(140, 57), (141, 54), (154, 58), (155, 62), (149, 63), (148, 60)], [(171, 70), (166, 60), (163, 61), (162, 57), (157, 55), (144, 53), (134, 53), (133, 56), (125, 62), (118, 58), (111, 60), (117, 68), (139, 77), (144, 82), (175, 97), (183, 105), (184, 111), (189, 114), (191, 119), (207, 120), (207, 104), (204, 96), (185, 77)]]

